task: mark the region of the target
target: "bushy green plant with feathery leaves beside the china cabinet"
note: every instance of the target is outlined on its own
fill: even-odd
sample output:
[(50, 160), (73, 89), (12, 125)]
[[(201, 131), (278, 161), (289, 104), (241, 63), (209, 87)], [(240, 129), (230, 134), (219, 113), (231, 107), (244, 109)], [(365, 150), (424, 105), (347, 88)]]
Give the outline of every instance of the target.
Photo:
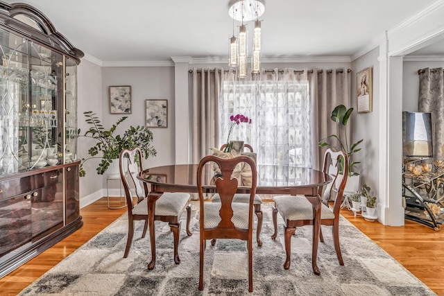
[[(99, 175), (103, 175), (108, 167), (112, 164), (114, 159), (118, 159), (121, 150), (123, 149), (133, 149), (139, 147), (142, 150), (142, 155), (147, 159), (150, 155), (155, 156), (157, 154), (155, 148), (151, 146), (151, 141), (153, 141), (153, 132), (146, 127), (130, 126), (122, 135), (114, 135), (114, 131), (117, 126), (125, 121), (128, 116), (123, 116), (116, 123), (112, 125), (109, 130), (105, 130), (101, 121), (92, 111), (83, 112), (85, 114), (85, 121), (91, 127), (85, 132), (85, 134), (80, 135), (80, 129), (78, 130), (78, 137), (89, 137), (96, 139), (96, 144), (89, 148), (88, 154), (91, 157), (87, 159), (83, 158), (80, 164), (80, 176), (85, 176), (85, 170), (83, 169), (83, 163), (88, 159), (100, 158), (102, 159), (99, 166), (96, 168)], [(117, 165), (117, 170), (119, 166)]]

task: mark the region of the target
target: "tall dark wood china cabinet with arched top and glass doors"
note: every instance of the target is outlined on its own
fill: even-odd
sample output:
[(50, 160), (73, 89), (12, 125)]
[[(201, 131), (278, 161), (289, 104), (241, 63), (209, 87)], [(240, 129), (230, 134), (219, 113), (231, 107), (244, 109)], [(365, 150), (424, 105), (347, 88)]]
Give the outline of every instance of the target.
[(42, 12), (0, 1), (0, 277), (83, 224), (77, 65)]

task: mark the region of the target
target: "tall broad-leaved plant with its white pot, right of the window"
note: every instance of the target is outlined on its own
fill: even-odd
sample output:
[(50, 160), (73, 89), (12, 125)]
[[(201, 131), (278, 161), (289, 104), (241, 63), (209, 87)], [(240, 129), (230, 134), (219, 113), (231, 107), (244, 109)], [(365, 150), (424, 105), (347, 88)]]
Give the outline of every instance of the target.
[(344, 168), (342, 162), (339, 163), (339, 174), (336, 177), (336, 184), (340, 184), (342, 181), (341, 174), (348, 173), (347, 184), (345, 185), (345, 192), (354, 192), (359, 189), (359, 173), (352, 171), (357, 164), (361, 162), (353, 162), (352, 157), (355, 153), (359, 152), (361, 148), (358, 148), (359, 144), (364, 141), (360, 139), (355, 143), (349, 143), (347, 137), (347, 123), (353, 112), (353, 108), (347, 109), (344, 105), (338, 105), (332, 111), (332, 116), (330, 119), (336, 123), (337, 133), (330, 134), (330, 136), (325, 137), (319, 141), (320, 147), (330, 147), (332, 150), (340, 151), (342, 150), (348, 157), (348, 168)]

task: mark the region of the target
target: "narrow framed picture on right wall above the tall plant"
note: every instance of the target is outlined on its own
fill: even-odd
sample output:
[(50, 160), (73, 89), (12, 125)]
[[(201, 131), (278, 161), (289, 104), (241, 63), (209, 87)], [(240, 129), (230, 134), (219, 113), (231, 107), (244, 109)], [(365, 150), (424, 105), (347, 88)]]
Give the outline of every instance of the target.
[(356, 75), (357, 112), (372, 112), (372, 68), (359, 71)]

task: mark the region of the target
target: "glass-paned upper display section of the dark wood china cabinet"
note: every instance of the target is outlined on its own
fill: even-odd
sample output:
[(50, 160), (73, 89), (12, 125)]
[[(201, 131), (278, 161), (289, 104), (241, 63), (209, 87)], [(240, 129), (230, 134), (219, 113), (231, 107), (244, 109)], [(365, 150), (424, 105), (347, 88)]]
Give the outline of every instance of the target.
[(0, 40), (0, 176), (73, 162), (76, 60), (1, 28)]

